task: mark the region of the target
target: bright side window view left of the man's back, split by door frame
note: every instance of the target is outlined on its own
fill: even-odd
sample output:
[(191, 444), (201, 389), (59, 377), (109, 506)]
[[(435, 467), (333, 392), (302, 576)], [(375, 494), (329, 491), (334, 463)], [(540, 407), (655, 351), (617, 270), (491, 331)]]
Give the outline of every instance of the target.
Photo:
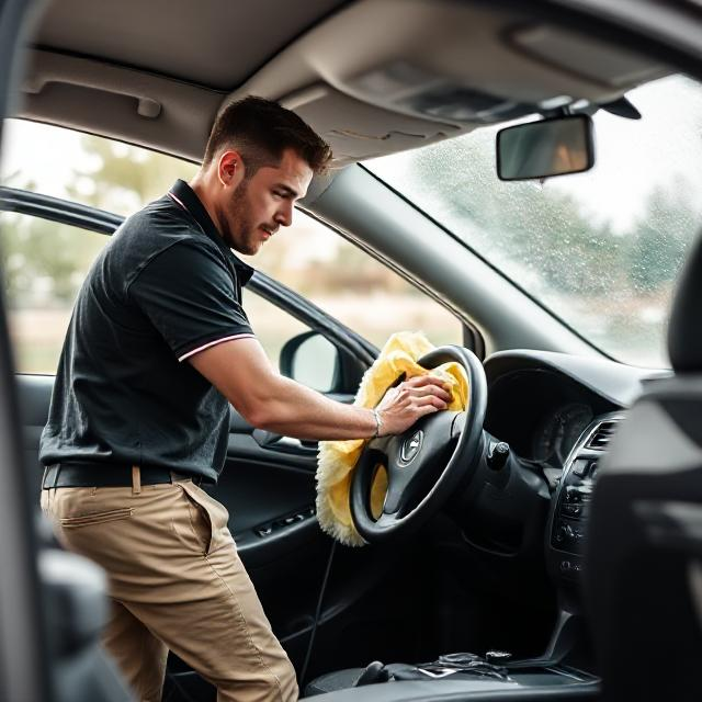
[[(160, 197), (192, 163), (113, 139), (5, 120), (2, 184), (127, 215)], [(73, 302), (107, 237), (16, 213), (0, 215), (15, 365), (56, 373)]]

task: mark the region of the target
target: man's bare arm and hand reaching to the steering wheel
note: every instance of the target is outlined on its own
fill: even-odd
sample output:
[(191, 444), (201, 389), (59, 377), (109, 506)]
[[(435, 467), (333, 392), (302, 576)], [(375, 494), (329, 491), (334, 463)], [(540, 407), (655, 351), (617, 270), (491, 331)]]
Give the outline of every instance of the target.
[[(234, 339), (188, 361), (253, 427), (298, 439), (365, 439), (375, 433), (373, 412), (333, 401), (282, 376), (256, 339)], [(451, 399), (442, 381), (421, 376), (389, 390), (377, 409), (381, 433), (400, 433)]]

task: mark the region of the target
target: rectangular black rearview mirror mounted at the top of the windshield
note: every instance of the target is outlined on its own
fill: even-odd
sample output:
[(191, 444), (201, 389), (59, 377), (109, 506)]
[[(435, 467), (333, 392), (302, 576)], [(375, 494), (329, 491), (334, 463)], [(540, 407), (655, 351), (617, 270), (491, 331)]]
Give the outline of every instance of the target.
[(579, 173), (593, 165), (592, 120), (584, 114), (518, 124), (497, 133), (500, 180)]

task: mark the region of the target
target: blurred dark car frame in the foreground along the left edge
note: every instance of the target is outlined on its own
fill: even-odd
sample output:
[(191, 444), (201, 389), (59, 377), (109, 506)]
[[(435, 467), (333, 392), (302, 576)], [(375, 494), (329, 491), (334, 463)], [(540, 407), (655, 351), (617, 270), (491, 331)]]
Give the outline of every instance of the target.
[[(0, 2), (0, 114), (8, 113), (29, 16), (36, 3)], [(14, 76), (13, 76), (14, 71)], [(4, 131), (4, 120), (0, 129)], [(0, 133), (1, 135), (1, 133)], [(3, 143), (4, 146), (4, 143)], [(4, 273), (4, 271), (3, 271)], [(100, 569), (53, 548), (37, 530), (23, 461), (20, 395), (4, 298), (0, 306), (0, 699), (123, 702), (131, 695), (102, 654)]]

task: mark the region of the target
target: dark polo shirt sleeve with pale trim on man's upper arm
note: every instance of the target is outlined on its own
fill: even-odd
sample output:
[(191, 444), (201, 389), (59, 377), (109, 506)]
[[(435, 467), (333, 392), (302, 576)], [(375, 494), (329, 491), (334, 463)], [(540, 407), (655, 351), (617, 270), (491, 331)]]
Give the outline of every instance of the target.
[(181, 241), (149, 261), (128, 294), (182, 361), (233, 337), (253, 336), (234, 274), (218, 251)]

